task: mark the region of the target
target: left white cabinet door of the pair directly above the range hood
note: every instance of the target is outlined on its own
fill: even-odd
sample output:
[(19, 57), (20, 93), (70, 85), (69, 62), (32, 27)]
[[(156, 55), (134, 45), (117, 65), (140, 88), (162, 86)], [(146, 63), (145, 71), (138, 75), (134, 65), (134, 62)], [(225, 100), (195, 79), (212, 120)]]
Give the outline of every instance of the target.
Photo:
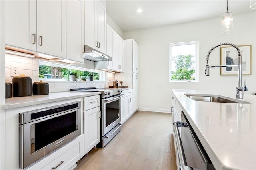
[(84, 44), (97, 49), (97, 0), (84, 1)]

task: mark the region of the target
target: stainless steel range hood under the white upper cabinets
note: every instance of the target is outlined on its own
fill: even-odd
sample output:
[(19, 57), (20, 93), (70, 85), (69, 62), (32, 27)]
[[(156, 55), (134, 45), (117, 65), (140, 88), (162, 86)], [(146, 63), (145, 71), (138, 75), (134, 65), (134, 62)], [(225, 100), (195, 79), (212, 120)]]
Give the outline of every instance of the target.
[(107, 61), (112, 60), (112, 57), (89, 47), (88, 45), (84, 45), (84, 59), (88, 59), (90, 61)]

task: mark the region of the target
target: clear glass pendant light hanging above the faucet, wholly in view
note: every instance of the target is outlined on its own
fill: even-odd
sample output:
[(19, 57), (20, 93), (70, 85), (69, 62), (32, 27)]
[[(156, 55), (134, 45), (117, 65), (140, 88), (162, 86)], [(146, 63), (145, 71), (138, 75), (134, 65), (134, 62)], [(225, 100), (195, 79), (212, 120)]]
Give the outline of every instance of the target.
[(233, 29), (233, 13), (228, 12), (228, 0), (227, 0), (227, 12), (222, 15), (222, 34), (229, 34)]

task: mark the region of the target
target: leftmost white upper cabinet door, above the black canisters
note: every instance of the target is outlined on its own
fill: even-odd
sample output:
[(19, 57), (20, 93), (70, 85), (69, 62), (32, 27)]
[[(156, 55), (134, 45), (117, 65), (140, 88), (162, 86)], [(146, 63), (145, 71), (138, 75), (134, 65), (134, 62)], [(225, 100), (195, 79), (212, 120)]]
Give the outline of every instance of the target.
[(36, 51), (36, 1), (5, 1), (6, 45)]

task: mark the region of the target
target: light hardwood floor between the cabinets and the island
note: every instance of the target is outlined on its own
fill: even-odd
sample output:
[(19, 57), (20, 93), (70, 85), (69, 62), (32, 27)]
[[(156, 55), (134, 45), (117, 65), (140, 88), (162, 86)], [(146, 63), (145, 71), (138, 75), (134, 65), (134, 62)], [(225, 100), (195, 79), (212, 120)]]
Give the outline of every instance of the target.
[(176, 170), (170, 113), (137, 111), (75, 170)]

